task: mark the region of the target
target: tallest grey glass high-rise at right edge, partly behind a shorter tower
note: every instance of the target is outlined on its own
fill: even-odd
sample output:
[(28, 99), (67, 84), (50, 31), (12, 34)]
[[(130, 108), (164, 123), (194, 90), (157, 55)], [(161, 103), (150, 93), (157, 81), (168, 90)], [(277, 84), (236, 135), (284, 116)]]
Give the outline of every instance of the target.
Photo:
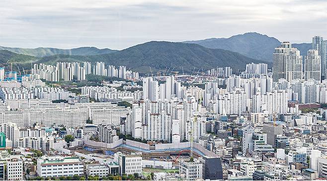
[(318, 50), (318, 54), (321, 57), (321, 71), (322, 80), (326, 79), (326, 59), (327, 59), (327, 41), (321, 36), (315, 36), (312, 38), (312, 49)]

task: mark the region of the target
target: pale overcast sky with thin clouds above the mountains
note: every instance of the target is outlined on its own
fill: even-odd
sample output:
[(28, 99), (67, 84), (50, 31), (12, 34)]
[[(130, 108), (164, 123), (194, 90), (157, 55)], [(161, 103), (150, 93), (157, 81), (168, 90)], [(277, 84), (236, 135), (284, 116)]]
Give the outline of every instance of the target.
[(0, 46), (122, 50), (258, 32), (327, 39), (327, 0), (1, 0)]

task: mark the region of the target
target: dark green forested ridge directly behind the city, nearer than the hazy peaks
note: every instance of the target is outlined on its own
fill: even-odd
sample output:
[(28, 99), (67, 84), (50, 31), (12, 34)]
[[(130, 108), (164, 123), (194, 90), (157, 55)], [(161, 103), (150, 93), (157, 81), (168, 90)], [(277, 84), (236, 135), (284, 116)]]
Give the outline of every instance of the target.
[[(0, 52), (1, 53), (1, 52)], [(11, 57), (20, 56), (12, 53)], [(0, 56), (1, 57), (1, 56)], [(233, 69), (244, 69), (246, 63), (264, 62), (248, 58), (239, 53), (222, 49), (209, 49), (197, 44), (185, 44), (164, 41), (151, 41), (144, 44), (116, 51), (110, 54), (92, 56), (53, 55), (42, 58), (24, 57), (23, 62), (42, 62), (55, 64), (57, 61), (103, 61), (107, 65), (125, 65), (139, 72), (149, 72), (170, 67), (177, 71), (191, 72), (194, 67), (210, 69), (231, 66)], [(7, 59), (1, 59), (5, 63)], [(269, 62), (266, 62), (269, 63)], [(27, 64), (27, 66), (30, 66)], [(269, 65), (270, 66), (270, 65)]]

